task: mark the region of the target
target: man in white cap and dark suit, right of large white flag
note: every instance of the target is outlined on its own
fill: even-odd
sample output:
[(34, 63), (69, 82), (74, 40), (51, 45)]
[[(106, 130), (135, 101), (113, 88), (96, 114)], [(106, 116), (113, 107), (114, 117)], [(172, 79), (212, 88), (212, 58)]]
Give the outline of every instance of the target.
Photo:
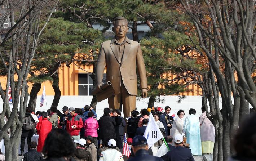
[(195, 161), (191, 150), (183, 147), (183, 136), (177, 134), (174, 137), (175, 149), (166, 153), (165, 161)]

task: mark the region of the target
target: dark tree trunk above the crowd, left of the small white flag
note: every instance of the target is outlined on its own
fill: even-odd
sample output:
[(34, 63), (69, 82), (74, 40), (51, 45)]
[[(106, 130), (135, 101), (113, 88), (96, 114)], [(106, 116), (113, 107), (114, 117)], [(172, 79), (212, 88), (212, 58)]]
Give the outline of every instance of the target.
[(41, 89), (41, 83), (34, 83), (33, 87), (30, 91), (29, 94), (29, 103), (28, 103), (28, 107), (30, 107), (32, 109), (33, 112), (35, 112), (35, 108), (36, 108), (36, 98), (37, 98), (37, 94)]

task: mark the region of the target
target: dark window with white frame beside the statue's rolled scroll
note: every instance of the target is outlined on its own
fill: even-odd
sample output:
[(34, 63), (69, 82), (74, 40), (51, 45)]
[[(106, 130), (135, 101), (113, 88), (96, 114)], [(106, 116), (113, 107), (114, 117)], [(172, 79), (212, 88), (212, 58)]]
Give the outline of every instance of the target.
[[(103, 83), (105, 83), (106, 74), (103, 75)], [(90, 73), (78, 74), (78, 95), (92, 95), (93, 80)]]

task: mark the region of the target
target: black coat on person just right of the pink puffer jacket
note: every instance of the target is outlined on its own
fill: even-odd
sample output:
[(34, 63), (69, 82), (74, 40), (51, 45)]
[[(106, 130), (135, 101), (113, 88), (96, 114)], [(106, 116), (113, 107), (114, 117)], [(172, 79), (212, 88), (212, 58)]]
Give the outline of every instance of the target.
[(98, 123), (99, 123), (98, 135), (100, 139), (110, 140), (110, 139), (116, 138), (115, 129), (114, 129), (114, 125), (116, 125), (116, 122), (112, 117), (102, 116), (100, 120), (98, 120)]

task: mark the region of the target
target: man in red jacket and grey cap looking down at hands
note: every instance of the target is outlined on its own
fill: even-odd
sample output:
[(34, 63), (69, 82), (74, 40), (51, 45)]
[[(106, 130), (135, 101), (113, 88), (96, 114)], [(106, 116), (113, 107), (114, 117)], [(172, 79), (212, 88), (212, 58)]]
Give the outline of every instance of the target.
[(69, 108), (70, 116), (67, 117), (67, 132), (71, 135), (74, 140), (80, 139), (80, 129), (83, 128), (83, 121), (81, 116), (75, 112), (74, 107)]

